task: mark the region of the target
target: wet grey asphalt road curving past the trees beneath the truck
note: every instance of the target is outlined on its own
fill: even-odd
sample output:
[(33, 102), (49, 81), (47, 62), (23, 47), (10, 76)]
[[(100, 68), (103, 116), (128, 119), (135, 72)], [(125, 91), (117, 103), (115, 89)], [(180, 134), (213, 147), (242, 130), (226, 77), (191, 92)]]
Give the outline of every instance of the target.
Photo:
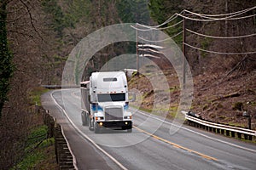
[(64, 89), (42, 96), (79, 169), (256, 169), (255, 144), (186, 125), (172, 134), (172, 122), (142, 111), (133, 114), (132, 133), (95, 134), (82, 126), (79, 95), (79, 89)]

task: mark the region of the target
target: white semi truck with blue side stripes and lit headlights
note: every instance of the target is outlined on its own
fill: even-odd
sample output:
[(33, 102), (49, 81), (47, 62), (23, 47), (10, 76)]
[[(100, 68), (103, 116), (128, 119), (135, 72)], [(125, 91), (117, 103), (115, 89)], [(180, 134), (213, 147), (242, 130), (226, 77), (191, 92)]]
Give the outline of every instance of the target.
[[(132, 131), (128, 111), (128, 85), (125, 72), (93, 72), (90, 81), (81, 82), (82, 124), (100, 133), (102, 128)], [(134, 100), (132, 96), (131, 100)], [(130, 101), (131, 101), (130, 100)]]

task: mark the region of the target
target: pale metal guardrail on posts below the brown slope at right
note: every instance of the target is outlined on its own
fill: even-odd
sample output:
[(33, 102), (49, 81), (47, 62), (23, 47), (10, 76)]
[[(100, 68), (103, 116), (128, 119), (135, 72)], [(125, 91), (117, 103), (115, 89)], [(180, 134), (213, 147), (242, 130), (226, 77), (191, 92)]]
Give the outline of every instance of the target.
[(220, 124), (216, 122), (209, 122), (202, 120), (196, 114), (190, 114), (190, 112), (182, 111), (190, 126), (199, 127), (213, 133), (220, 133), (226, 136), (239, 139), (253, 140), (256, 137), (256, 131), (242, 127), (233, 127), (230, 125)]

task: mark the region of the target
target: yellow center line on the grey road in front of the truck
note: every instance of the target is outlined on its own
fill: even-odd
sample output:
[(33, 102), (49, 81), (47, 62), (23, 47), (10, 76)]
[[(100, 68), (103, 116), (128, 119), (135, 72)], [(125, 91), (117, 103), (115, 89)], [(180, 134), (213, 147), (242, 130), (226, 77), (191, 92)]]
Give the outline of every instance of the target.
[(139, 127), (135, 127), (135, 126), (133, 126), (133, 127), (136, 128), (138, 131), (141, 131), (141, 132), (143, 132), (143, 133), (148, 134), (149, 136), (153, 137), (154, 139), (159, 139), (159, 140), (161, 140), (161, 141), (163, 141), (163, 142), (165, 142), (165, 143), (167, 143), (167, 144), (172, 144), (172, 145), (173, 145), (174, 147), (176, 147), (176, 148), (183, 149), (183, 150), (187, 150), (187, 151), (189, 151), (189, 152), (191, 152), (191, 153), (194, 153), (194, 154), (196, 154), (196, 155), (199, 155), (199, 156), (201, 156), (201, 157), (204, 157), (204, 158), (206, 158), (206, 159), (208, 159), (208, 160), (218, 161), (218, 159), (216, 159), (216, 158), (214, 158), (214, 157), (212, 157), (212, 156), (207, 156), (207, 155), (202, 154), (202, 153), (200, 153), (200, 152), (198, 152), (198, 151), (190, 150), (189, 148), (183, 147), (183, 146), (181, 146), (181, 145), (179, 145), (179, 144), (172, 143), (172, 142), (169, 141), (169, 140), (162, 139), (162, 138), (160, 138), (160, 137), (158, 137), (158, 136), (156, 136), (156, 135), (154, 135), (154, 134), (152, 134), (152, 133), (148, 133), (147, 131), (144, 131), (143, 129), (141, 129), (141, 128), (139, 128)]

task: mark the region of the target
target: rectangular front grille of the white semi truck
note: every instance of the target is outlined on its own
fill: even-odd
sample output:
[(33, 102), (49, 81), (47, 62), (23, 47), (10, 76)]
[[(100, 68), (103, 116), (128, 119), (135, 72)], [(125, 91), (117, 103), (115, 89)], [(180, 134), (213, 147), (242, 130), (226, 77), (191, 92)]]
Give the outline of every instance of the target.
[(123, 120), (123, 110), (122, 107), (107, 107), (105, 108), (105, 120)]

